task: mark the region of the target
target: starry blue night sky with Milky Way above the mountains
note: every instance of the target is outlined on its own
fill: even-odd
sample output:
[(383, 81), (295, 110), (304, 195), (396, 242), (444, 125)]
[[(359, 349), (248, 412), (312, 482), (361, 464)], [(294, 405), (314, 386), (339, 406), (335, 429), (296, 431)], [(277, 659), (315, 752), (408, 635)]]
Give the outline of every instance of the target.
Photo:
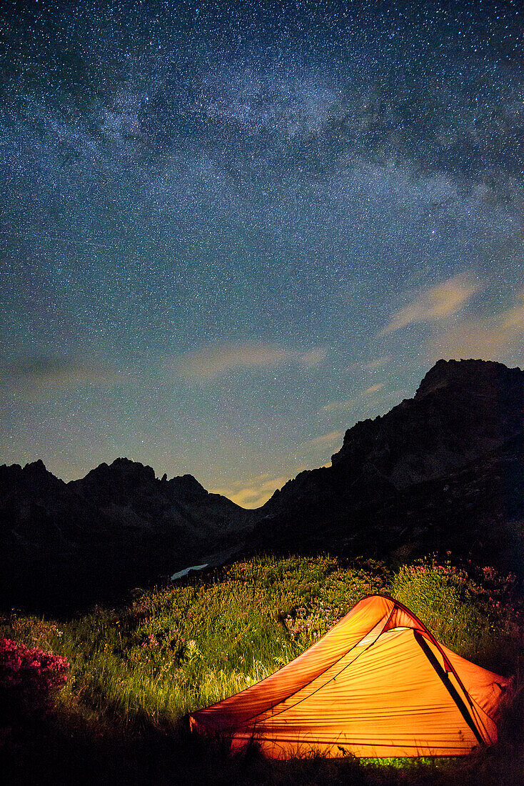
[(520, 2), (1, 2), (0, 463), (246, 507), (524, 364)]

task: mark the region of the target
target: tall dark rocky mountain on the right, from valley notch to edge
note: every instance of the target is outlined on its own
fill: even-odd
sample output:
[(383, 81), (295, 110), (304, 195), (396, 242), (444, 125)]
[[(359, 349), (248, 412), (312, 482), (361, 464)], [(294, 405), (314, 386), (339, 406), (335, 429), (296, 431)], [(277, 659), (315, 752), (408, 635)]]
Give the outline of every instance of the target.
[(439, 361), (413, 399), (350, 428), (332, 467), (273, 494), (255, 541), (368, 555), (450, 548), (517, 563), (523, 423), (520, 369)]

